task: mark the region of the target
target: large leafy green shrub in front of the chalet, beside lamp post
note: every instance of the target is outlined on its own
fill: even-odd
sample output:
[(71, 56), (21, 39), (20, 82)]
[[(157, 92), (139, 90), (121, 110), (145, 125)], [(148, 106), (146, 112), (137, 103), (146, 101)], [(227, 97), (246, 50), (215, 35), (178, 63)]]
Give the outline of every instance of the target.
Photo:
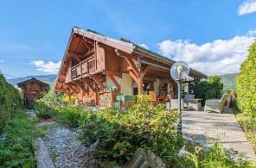
[(127, 111), (104, 109), (96, 114), (86, 113), (80, 119), (83, 140), (87, 144), (99, 139), (98, 157), (106, 165), (124, 165), (138, 147), (148, 148), (163, 157), (177, 151), (173, 122), (176, 112), (154, 106), (144, 97)]

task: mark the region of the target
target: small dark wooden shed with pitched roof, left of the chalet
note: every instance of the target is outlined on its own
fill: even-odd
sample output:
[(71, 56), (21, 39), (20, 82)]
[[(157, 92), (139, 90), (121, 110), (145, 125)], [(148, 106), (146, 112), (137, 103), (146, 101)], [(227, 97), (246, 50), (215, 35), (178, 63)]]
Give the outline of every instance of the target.
[(43, 83), (36, 78), (30, 78), (17, 84), (22, 90), (24, 106), (31, 108), (35, 100), (41, 98), (42, 93), (48, 91), (48, 84)]

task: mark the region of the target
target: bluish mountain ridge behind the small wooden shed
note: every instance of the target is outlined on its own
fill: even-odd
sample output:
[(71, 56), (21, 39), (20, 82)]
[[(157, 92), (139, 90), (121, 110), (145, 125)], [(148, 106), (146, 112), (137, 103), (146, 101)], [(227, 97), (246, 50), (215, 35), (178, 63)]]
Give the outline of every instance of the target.
[(17, 85), (17, 83), (20, 83), (24, 80), (28, 80), (30, 78), (36, 78), (38, 80), (41, 80), (44, 83), (49, 84), (50, 86), (53, 86), (57, 76), (56, 75), (37, 75), (37, 76), (27, 76), (23, 78), (10, 78), (7, 80), (7, 82), (9, 82), (12, 85)]

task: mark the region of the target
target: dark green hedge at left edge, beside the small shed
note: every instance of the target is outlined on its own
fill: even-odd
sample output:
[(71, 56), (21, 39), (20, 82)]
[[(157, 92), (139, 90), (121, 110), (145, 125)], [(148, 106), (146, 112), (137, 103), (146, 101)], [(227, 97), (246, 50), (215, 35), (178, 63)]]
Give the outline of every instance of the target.
[(18, 109), (22, 109), (22, 97), (0, 73), (0, 133), (10, 118), (16, 115)]

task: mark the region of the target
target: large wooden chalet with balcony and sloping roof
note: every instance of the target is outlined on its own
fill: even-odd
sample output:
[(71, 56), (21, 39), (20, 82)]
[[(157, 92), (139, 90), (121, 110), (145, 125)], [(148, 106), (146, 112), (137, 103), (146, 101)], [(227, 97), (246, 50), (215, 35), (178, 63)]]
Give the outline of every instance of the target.
[[(175, 97), (176, 82), (170, 78), (174, 63), (129, 40), (73, 28), (54, 90), (100, 106), (112, 104), (118, 94), (140, 95), (149, 90)], [(194, 69), (189, 76), (207, 78)]]

